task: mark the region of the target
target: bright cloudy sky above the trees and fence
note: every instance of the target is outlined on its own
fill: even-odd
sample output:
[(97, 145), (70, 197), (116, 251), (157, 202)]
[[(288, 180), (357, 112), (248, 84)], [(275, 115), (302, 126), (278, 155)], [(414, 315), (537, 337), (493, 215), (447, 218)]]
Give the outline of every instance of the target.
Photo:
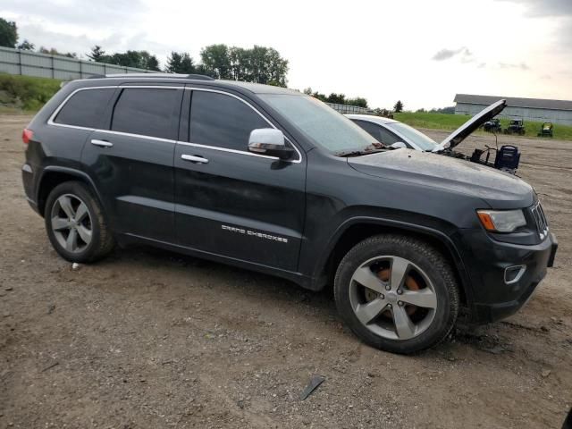
[(372, 107), (453, 105), (456, 93), (572, 99), (572, 0), (2, 0), (20, 41), (85, 55), (272, 46), (289, 88)]

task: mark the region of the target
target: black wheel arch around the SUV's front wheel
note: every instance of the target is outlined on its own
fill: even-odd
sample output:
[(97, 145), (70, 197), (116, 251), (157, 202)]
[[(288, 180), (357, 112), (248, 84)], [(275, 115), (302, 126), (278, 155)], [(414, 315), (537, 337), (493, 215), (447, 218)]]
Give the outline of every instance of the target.
[(467, 307), (472, 306), (472, 292), (467, 271), (461, 259), (458, 248), (450, 239), (450, 236), (442, 231), (435, 230), (423, 225), (404, 223), (400, 221), (356, 217), (342, 223), (332, 235), (332, 239), (324, 252), (324, 257), (315, 266), (313, 277), (313, 290), (324, 289), (332, 284), (333, 276), (341, 258), (358, 242), (379, 234), (400, 234), (408, 237), (424, 240), (437, 248), (444, 257), (450, 261), (459, 284), (461, 302)]

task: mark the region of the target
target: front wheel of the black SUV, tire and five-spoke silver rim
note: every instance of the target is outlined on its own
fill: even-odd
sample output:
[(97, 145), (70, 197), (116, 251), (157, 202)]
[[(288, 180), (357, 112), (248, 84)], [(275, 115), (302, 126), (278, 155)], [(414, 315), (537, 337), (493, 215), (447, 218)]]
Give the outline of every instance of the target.
[(458, 297), (447, 259), (424, 241), (400, 235), (358, 243), (334, 280), (336, 307), (351, 331), (370, 346), (400, 354), (443, 341), (457, 320)]

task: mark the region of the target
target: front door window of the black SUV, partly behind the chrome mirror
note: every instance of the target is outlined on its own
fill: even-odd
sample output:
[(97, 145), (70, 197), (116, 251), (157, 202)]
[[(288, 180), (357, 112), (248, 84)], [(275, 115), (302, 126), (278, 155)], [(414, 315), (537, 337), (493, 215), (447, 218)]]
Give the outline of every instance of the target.
[(193, 91), (190, 107), (190, 142), (248, 150), (250, 131), (272, 128), (240, 100), (216, 92)]

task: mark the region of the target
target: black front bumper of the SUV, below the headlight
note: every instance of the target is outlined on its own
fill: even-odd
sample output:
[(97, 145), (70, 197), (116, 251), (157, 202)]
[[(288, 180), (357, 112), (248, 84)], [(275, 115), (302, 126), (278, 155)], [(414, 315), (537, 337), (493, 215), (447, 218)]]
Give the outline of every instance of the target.
[[(558, 241), (554, 234), (534, 246), (492, 240), (484, 231), (464, 234), (464, 257), (471, 282), (471, 320), (486, 324), (513, 315), (526, 304), (546, 269), (554, 265)], [(507, 268), (522, 265), (524, 272), (507, 281)]]

